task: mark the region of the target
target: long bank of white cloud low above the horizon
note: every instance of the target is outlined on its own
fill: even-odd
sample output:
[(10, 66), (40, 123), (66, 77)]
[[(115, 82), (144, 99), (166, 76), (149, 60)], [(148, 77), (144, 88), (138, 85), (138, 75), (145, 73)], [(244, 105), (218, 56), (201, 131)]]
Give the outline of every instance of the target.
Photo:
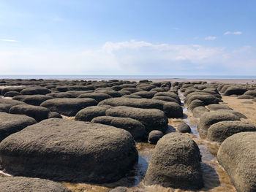
[(105, 42), (76, 53), (0, 47), (0, 67), (1, 74), (252, 74), (255, 53), (249, 46), (227, 50), (135, 40)]

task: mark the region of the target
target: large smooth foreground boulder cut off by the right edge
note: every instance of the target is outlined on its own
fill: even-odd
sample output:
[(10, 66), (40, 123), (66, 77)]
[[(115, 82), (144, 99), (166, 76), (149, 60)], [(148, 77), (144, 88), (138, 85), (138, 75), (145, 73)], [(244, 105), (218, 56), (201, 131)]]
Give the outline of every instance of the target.
[(256, 132), (238, 133), (225, 139), (217, 159), (238, 192), (256, 191)]

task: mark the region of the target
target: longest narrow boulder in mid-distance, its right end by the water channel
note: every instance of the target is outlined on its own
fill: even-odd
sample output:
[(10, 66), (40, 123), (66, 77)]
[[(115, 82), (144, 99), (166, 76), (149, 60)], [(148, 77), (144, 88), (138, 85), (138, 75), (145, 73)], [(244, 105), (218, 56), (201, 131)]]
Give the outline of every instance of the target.
[(157, 99), (132, 99), (132, 98), (111, 98), (100, 101), (99, 105), (108, 104), (111, 106), (138, 107), (143, 109), (162, 110), (167, 118), (182, 118), (182, 107), (174, 102), (159, 101)]

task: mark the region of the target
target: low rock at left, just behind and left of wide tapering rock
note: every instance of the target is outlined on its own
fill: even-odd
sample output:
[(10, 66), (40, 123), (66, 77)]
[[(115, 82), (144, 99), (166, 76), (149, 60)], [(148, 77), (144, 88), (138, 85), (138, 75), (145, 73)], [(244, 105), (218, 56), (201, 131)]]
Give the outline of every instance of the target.
[(23, 101), (26, 104), (39, 106), (40, 104), (42, 104), (43, 101), (46, 101), (48, 99), (53, 99), (53, 97), (45, 96), (45, 95), (26, 95), (26, 96), (15, 96), (12, 99)]

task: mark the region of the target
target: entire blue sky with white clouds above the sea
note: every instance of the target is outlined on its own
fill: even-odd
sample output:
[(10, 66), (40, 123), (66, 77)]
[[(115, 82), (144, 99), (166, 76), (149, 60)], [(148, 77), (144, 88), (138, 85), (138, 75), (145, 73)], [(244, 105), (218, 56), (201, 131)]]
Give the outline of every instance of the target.
[(0, 74), (255, 75), (254, 0), (0, 0)]

